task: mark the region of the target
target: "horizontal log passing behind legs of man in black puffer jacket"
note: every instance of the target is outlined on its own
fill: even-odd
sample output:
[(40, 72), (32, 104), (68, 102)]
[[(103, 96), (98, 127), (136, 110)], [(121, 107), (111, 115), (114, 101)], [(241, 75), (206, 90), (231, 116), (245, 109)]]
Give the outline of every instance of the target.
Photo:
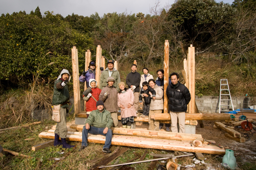
[[(155, 120), (170, 120), (169, 113), (157, 113), (151, 118)], [(226, 120), (229, 119), (228, 113), (186, 113), (185, 120)]]

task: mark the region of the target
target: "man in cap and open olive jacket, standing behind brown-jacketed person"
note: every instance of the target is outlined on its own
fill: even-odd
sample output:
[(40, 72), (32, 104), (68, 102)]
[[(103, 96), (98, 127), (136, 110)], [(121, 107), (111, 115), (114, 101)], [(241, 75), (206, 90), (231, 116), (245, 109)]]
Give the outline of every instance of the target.
[(108, 68), (106, 68), (105, 70), (103, 70), (101, 72), (100, 89), (102, 89), (103, 87), (106, 87), (108, 85), (108, 83), (106, 82), (108, 77), (114, 78), (115, 83), (113, 84), (113, 86), (117, 89), (117, 91), (119, 91), (118, 83), (120, 83), (120, 74), (116, 70), (116, 68), (114, 68), (114, 60), (109, 60)]

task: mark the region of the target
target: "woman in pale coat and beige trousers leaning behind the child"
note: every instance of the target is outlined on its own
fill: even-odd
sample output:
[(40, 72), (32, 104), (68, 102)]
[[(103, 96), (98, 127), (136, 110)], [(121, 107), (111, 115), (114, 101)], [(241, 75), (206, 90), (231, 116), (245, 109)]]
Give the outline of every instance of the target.
[[(161, 87), (159, 87), (154, 79), (150, 79), (148, 81), (148, 84), (151, 88), (153, 88), (156, 91), (156, 100), (151, 99), (150, 104), (150, 113), (148, 115), (148, 124), (150, 126), (148, 127), (148, 130), (159, 130), (159, 120), (154, 120), (151, 118), (151, 115), (154, 115), (155, 113), (162, 113), (163, 110), (163, 90)], [(151, 98), (152, 93), (150, 92)]]

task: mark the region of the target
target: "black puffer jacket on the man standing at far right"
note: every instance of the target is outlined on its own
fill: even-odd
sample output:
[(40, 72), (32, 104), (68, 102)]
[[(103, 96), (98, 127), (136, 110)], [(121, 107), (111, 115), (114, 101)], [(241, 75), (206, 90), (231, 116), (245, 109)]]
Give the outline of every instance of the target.
[(181, 84), (179, 81), (176, 86), (171, 83), (166, 89), (166, 95), (169, 100), (169, 111), (186, 112), (187, 104), (191, 99), (190, 92), (186, 86)]

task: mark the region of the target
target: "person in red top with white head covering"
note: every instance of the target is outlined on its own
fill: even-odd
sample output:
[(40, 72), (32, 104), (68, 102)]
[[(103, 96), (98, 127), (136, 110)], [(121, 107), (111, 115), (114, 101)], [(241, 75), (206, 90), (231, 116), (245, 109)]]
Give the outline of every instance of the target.
[[(101, 89), (97, 88), (97, 82), (95, 79), (89, 80), (89, 86), (92, 91), (87, 96), (83, 96), (83, 100), (86, 101), (87, 117), (89, 116), (91, 111), (97, 109), (96, 102), (99, 100), (99, 94), (101, 92)], [(92, 98), (92, 96), (96, 101)]]

